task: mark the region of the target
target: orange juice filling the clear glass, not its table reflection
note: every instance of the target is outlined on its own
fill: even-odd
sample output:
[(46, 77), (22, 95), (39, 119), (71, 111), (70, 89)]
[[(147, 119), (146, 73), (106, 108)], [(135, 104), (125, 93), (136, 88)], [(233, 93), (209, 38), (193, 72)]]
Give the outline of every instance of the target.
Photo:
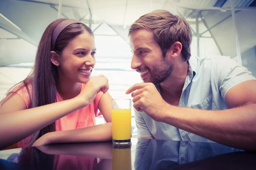
[(131, 109), (112, 109), (113, 140), (131, 139)]

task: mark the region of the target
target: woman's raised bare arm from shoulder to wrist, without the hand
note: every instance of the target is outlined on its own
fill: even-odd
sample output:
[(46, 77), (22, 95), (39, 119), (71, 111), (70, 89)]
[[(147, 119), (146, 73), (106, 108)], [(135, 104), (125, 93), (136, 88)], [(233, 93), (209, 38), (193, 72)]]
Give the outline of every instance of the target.
[[(23, 99), (17, 94), (4, 103), (0, 102), (0, 148), (14, 144), (68, 113), (84, 107), (79, 98), (23, 110), (24, 105)], [(13, 107), (16, 111), (12, 111)]]

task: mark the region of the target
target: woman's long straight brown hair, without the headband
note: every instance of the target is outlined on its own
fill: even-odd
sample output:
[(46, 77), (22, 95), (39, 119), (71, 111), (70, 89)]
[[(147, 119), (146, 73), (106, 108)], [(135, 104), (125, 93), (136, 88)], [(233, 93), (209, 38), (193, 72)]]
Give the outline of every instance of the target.
[[(26, 87), (29, 95), (29, 108), (36, 108), (55, 102), (57, 92), (56, 87), (58, 84), (58, 70), (57, 66), (53, 65), (50, 59), (51, 38), (54, 28), (64, 20), (67, 19), (55, 20), (45, 29), (38, 45), (35, 64), (32, 71), (26, 79), (17, 84), (20, 85), (19, 88), (17, 88), (16, 91), (12, 91), (12, 93), (16, 93), (20, 89)], [(61, 55), (70, 40), (73, 40), (73, 38), (79, 34), (83, 34), (84, 31), (87, 31), (93, 36), (91, 29), (84, 24), (74, 23), (67, 26), (59, 34), (55, 42), (54, 51)], [(32, 85), (32, 91), (29, 91), (28, 85)], [(10, 97), (11, 95), (8, 96), (5, 101)], [(29, 146), (32, 146), (32, 144), (44, 134), (53, 131), (55, 131), (55, 122), (34, 133), (32, 135), (32, 139), (29, 141)]]

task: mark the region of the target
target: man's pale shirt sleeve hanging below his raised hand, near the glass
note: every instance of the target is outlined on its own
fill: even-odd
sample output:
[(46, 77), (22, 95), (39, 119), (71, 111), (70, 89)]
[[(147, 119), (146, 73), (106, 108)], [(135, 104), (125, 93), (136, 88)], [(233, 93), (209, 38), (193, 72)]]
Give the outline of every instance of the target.
[(135, 118), (136, 126), (138, 129), (138, 136), (140, 137), (153, 136), (148, 130), (148, 126), (146, 125), (145, 119), (142, 116), (143, 112), (139, 112), (136, 109), (134, 109), (134, 112), (135, 112), (134, 118)]

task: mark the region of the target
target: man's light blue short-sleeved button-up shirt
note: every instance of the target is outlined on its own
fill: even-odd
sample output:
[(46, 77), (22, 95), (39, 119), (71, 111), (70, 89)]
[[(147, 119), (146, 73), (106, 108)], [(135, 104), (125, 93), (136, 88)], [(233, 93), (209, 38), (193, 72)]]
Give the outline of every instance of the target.
[[(179, 106), (203, 110), (227, 109), (224, 101), (230, 88), (241, 82), (255, 79), (251, 72), (226, 56), (212, 55), (189, 59), (188, 76), (180, 97)], [(159, 90), (159, 85), (156, 85)], [(156, 122), (144, 112), (135, 110), (138, 136), (154, 136), (155, 139), (212, 142), (209, 139), (178, 129), (172, 125)]]

